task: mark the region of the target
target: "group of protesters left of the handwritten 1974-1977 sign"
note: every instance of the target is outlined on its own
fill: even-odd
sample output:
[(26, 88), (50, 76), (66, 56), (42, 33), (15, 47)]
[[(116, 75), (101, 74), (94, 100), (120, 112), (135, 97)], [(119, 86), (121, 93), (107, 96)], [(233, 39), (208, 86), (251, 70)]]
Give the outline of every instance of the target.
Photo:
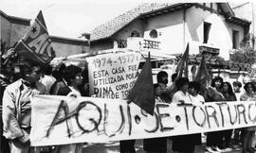
[(88, 96), (86, 70), (60, 63), (54, 69), (15, 57), (12, 49), (1, 56), (1, 151), (2, 153), (60, 152), (81, 153), (83, 144), (30, 147), (30, 97), (35, 94)]

